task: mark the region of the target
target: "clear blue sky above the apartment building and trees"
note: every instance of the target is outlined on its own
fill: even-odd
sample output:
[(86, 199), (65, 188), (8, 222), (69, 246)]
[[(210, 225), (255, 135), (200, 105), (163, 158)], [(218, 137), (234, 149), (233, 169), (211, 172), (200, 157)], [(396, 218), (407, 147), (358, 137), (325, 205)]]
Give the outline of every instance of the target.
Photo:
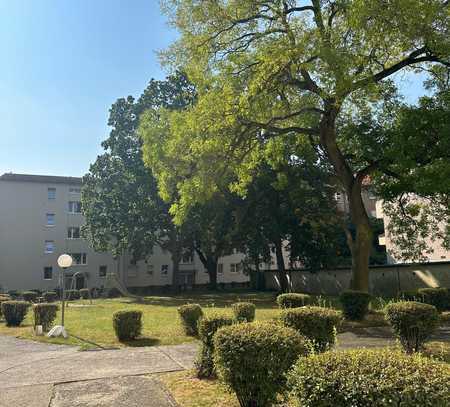
[(158, 0), (0, 0), (0, 174), (86, 173), (109, 107), (164, 76), (175, 36)]

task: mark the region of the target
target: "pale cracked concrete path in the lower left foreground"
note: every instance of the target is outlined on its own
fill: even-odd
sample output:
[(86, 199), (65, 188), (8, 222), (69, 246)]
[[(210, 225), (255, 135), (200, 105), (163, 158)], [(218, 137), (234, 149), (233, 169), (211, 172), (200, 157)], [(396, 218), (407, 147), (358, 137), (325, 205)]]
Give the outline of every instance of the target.
[(0, 336), (1, 407), (172, 407), (152, 373), (192, 367), (196, 346), (79, 352)]

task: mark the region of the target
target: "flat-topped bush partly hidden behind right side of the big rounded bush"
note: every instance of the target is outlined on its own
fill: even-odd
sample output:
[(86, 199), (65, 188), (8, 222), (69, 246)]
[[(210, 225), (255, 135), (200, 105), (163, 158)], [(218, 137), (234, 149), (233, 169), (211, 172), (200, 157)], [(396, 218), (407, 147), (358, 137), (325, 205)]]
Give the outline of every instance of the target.
[(336, 342), (336, 329), (341, 322), (341, 314), (330, 308), (293, 308), (281, 312), (281, 321), (308, 338), (314, 351), (324, 352)]

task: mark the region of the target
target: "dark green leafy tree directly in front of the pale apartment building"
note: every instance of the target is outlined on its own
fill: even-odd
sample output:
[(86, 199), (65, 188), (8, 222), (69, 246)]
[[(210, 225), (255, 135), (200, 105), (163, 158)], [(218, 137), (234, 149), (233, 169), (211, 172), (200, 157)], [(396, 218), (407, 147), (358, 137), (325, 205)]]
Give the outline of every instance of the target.
[(92, 246), (116, 257), (127, 253), (138, 261), (159, 245), (171, 253), (175, 287), (189, 238), (172, 222), (170, 205), (160, 198), (156, 180), (144, 165), (137, 128), (145, 109), (182, 109), (194, 96), (192, 85), (177, 73), (167, 80), (151, 80), (137, 100), (132, 96), (118, 99), (110, 109), (112, 130), (102, 143), (105, 152), (83, 178), (83, 233)]

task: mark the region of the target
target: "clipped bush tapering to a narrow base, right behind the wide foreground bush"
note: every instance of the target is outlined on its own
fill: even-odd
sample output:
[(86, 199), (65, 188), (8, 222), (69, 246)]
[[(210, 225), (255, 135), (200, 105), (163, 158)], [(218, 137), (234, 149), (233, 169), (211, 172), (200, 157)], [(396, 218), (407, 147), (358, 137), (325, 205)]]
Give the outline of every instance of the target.
[(415, 301), (388, 304), (385, 308), (387, 321), (406, 352), (418, 352), (439, 325), (436, 307)]

